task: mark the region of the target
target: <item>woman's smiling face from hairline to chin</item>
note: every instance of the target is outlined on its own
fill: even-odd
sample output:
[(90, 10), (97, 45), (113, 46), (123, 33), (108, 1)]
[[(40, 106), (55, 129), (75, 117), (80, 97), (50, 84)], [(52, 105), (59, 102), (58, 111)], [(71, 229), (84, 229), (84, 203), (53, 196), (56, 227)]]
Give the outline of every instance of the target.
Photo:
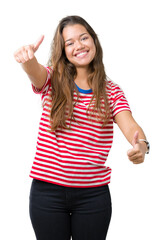
[(68, 25), (63, 29), (62, 35), (67, 59), (76, 68), (88, 68), (94, 59), (96, 47), (86, 28), (81, 24)]

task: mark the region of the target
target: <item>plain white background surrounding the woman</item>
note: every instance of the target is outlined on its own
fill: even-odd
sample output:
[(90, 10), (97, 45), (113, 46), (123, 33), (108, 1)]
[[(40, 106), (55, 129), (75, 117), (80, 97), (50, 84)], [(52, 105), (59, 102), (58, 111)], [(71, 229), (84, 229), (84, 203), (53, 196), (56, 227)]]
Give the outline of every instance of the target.
[(124, 90), (135, 120), (151, 143), (145, 162), (134, 165), (126, 155), (131, 146), (115, 125), (113, 148), (106, 162), (112, 168), (109, 186), (113, 204), (107, 239), (163, 239), (161, 4), (161, 0), (1, 3), (0, 239), (35, 239), (28, 212), (29, 172), (41, 101), (13, 53), (44, 34), (36, 57), (46, 64), (56, 26), (67, 15), (82, 16), (98, 34), (107, 75)]

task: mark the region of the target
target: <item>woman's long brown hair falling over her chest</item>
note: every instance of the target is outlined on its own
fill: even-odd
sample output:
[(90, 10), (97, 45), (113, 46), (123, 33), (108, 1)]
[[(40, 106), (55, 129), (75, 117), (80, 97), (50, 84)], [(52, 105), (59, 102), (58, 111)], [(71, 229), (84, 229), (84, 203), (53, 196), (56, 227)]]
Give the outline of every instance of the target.
[[(90, 74), (88, 75), (88, 84), (92, 88), (92, 98), (87, 109), (87, 116), (96, 116), (98, 122), (102, 122), (102, 127), (107, 124), (110, 116), (109, 101), (106, 94), (105, 69), (103, 65), (103, 52), (98, 37), (92, 27), (79, 16), (68, 16), (63, 18), (56, 29), (50, 51), (48, 66), (53, 68), (52, 85), (52, 103), (51, 103), (51, 130), (55, 131), (57, 127), (70, 129), (66, 125), (66, 119), (75, 120), (73, 115), (73, 93), (74, 89), (77, 93), (77, 101), (79, 93), (74, 83), (77, 75), (76, 67), (68, 61), (64, 50), (64, 39), (62, 32), (67, 25), (81, 24), (94, 40), (96, 54), (89, 65)], [(103, 100), (102, 100), (103, 99)], [(93, 102), (93, 108), (91, 103)], [(68, 107), (68, 114), (65, 114)], [(91, 111), (88, 114), (88, 110)]]

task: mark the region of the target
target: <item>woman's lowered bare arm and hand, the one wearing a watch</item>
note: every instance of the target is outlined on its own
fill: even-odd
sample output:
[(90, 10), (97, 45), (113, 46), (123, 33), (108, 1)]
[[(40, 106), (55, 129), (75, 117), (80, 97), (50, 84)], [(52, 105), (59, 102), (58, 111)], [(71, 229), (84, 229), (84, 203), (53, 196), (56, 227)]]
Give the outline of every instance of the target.
[(144, 162), (147, 146), (146, 143), (139, 141), (139, 139), (146, 139), (142, 128), (136, 123), (129, 111), (118, 113), (115, 116), (115, 121), (126, 139), (133, 146), (127, 152), (129, 160), (135, 164)]

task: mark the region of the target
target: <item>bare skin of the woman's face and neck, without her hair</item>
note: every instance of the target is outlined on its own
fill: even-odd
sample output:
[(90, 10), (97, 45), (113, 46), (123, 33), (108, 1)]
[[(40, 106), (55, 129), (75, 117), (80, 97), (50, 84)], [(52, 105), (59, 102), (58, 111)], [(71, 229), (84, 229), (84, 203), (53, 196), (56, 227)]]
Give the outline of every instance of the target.
[[(77, 70), (75, 83), (80, 88), (90, 89), (87, 83), (88, 66), (96, 54), (93, 38), (85, 27), (80, 24), (66, 26), (62, 35), (65, 42), (66, 57), (75, 65)], [(86, 54), (78, 55), (81, 52), (86, 52)]]

